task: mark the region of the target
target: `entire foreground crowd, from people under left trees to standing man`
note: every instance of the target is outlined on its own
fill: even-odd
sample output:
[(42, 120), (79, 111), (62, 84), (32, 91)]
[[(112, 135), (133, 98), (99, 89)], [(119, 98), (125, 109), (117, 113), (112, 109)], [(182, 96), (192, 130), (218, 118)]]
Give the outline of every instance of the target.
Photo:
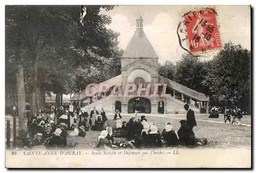
[[(64, 109), (62, 106), (56, 109), (40, 109), (37, 116), (28, 122), (28, 131), (24, 134), (22, 141), (27, 150), (38, 146), (48, 149), (69, 147), (67, 137), (85, 137), (87, 131), (101, 131), (98, 137), (98, 148), (115, 149), (122, 147), (161, 147), (163, 143), (168, 146), (177, 144), (195, 145), (204, 144), (205, 140), (195, 137), (193, 127), (197, 126), (195, 113), (186, 104), (187, 119), (181, 120), (181, 127), (176, 131), (170, 122), (167, 122), (162, 133), (159, 132), (154, 122), (147, 122), (144, 115), (136, 119), (137, 113), (128, 122), (122, 121), (119, 110), (116, 110), (114, 118), (110, 123), (102, 108), (99, 113), (96, 107), (88, 113), (86, 109), (74, 108)], [(103, 130), (102, 130), (103, 129)], [(125, 138), (123, 142), (115, 141), (114, 137)]]

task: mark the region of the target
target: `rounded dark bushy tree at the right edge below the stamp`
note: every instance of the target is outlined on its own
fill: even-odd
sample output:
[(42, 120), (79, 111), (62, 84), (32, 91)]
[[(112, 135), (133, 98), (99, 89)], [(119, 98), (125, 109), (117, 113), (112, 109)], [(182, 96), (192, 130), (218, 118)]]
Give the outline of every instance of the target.
[(212, 60), (203, 85), (212, 102), (250, 111), (251, 53), (241, 44), (228, 42)]

